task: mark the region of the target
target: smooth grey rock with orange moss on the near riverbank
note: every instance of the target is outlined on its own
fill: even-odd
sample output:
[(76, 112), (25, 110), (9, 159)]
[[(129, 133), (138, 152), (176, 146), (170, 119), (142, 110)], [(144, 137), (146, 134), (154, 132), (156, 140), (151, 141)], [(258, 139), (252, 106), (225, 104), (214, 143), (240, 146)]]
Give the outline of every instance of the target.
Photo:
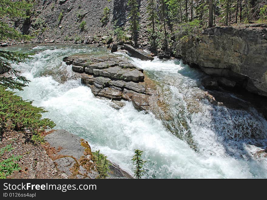
[[(97, 178), (99, 175), (87, 141), (66, 130), (56, 130), (44, 138), (48, 155), (68, 178)], [(132, 178), (117, 164), (110, 163), (107, 178)]]

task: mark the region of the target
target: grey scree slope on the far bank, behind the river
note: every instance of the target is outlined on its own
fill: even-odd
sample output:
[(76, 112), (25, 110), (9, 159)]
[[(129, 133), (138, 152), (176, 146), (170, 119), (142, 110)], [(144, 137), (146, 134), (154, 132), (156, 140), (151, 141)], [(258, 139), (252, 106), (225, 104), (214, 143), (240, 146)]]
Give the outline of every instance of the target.
[[(15, 22), (15, 27), (24, 34), (35, 36), (34, 42), (80, 43), (86, 36), (101, 39), (109, 36), (114, 25), (128, 26), (128, 12), (125, 0), (38, 0), (35, 1), (30, 19)], [(147, 0), (138, 1), (140, 7), (140, 45), (147, 45), (145, 32), (147, 24)], [(100, 20), (104, 8), (110, 9), (106, 24)], [(85, 26), (81, 29), (81, 22)], [(130, 32), (129, 32), (130, 33)]]

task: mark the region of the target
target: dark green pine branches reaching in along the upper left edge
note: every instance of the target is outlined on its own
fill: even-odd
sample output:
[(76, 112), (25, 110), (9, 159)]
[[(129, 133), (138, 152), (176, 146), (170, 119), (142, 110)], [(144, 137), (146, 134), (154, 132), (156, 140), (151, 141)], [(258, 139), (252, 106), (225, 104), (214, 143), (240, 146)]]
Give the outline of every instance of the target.
[[(15, 17), (27, 18), (26, 12), (29, 11), (31, 5), (25, 1), (0, 1), (0, 16), (2, 18), (13, 19)], [(29, 36), (20, 34), (14, 28), (10, 27), (6, 22), (0, 21), (0, 41), (7, 39), (30, 39)], [(22, 87), (27, 86), (29, 80), (19, 75), (19, 71), (11, 67), (11, 63), (20, 63), (29, 58), (29, 54), (15, 53), (9, 51), (0, 51), (0, 84), (12, 90), (23, 90)], [(10, 76), (4, 76), (8, 73)], [(15, 77), (12, 77), (15, 76)]]

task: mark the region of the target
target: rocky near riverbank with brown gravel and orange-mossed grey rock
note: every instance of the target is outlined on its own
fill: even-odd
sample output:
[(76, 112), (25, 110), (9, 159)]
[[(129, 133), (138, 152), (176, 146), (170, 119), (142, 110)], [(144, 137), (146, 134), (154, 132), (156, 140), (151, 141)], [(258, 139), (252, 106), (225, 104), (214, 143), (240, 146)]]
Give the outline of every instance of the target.
[[(21, 156), (19, 171), (7, 178), (98, 178), (99, 172), (87, 141), (65, 130), (44, 133), (45, 143), (34, 145), (24, 134), (11, 131), (2, 135), (0, 148), (12, 143), (14, 148), (2, 155)], [(107, 158), (108, 159), (108, 158)], [(117, 164), (110, 163), (106, 178), (132, 178)]]

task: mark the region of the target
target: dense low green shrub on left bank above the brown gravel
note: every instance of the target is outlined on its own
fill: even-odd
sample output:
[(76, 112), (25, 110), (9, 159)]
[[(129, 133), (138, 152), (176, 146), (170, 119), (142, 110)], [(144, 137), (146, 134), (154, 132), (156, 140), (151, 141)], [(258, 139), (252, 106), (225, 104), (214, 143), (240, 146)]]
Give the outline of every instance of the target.
[[(47, 119), (42, 119), (46, 113), (42, 107), (32, 106), (32, 101), (22, 100), (14, 92), (5, 90), (0, 86), (0, 125), (2, 131), (15, 130), (25, 134), (38, 134), (45, 129), (53, 128), (56, 124)], [(27, 132), (26, 132), (27, 131)]]

